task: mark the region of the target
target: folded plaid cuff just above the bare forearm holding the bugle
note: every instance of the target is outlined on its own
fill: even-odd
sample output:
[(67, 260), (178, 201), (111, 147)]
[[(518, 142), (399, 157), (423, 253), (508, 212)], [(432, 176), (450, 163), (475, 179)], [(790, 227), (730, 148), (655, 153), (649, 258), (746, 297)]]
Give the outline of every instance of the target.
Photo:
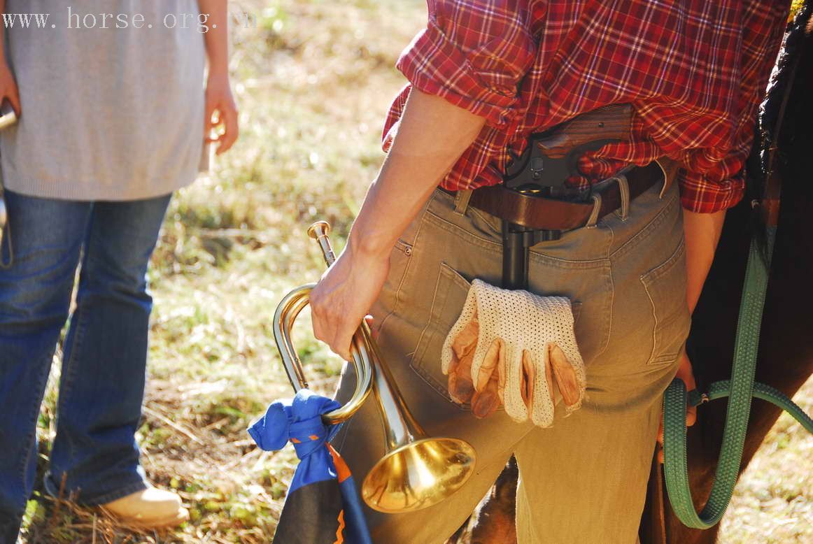
[[(510, 49), (516, 51), (514, 47)], [(520, 58), (520, 63), (523, 62)], [(528, 55), (528, 65), (531, 62), (533, 54)], [(512, 58), (511, 64), (516, 63), (517, 59)], [(477, 71), (469, 56), (432, 20), (402, 52), (396, 67), (413, 88), (485, 117), (492, 127), (504, 129), (515, 118), (519, 79), (507, 72)]]

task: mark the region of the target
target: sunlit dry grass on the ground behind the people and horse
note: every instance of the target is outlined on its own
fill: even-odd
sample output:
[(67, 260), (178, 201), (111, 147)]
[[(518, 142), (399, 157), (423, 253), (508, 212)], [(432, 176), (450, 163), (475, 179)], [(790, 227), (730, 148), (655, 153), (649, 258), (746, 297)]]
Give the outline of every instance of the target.
[[(323, 270), (307, 226), (333, 224), (344, 243), (383, 158), (380, 131), (403, 84), (393, 64), (421, 28), (420, 0), (250, 0), (234, 11), (233, 84), (241, 139), (212, 175), (180, 191), (154, 254), (150, 379), (138, 438), (150, 480), (176, 490), (189, 523), (168, 533), (115, 525), (100, 512), (46, 498), (28, 504), (27, 542), (269, 542), (295, 456), (266, 453), (246, 434), (289, 395), (271, 319), (289, 288)], [(320, 391), (341, 361), (307, 334), (296, 340)], [(59, 357), (59, 353), (57, 354)], [(54, 436), (55, 384), (38, 429), (41, 466)], [(813, 382), (798, 396), (808, 411)], [(780, 420), (737, 488), (722, 542), (811, 542), (813, 439)], [(793, 540), (795, 538), (795, 540)]]

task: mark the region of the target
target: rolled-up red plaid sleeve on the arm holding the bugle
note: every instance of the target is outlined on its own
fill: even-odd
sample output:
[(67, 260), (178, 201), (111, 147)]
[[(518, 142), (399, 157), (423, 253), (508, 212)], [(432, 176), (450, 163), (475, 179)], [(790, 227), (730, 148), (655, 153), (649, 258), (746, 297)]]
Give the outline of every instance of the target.
[(506, 128), (537, 49), (528, 30), (527, 4), (428, 0), (427, 28), (396, 66), (413, 88), (485, 117), (492, 127)]

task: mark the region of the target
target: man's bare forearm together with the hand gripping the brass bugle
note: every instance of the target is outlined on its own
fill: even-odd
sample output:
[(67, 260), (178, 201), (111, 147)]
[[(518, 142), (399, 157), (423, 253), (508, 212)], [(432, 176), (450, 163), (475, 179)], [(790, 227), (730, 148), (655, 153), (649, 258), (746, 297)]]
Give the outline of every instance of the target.
[(390, 250), (483, 124), (443, 98), (412, 90), (345, 250), (311, 291), (314, 336), (346, 361), (354, 331), (386, 280)]

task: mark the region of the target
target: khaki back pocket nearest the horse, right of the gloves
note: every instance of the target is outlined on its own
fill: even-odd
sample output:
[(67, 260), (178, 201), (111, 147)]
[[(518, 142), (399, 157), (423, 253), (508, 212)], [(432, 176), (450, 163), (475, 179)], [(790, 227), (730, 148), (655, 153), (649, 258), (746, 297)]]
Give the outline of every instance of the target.
[(649, 365), (672, 363), (689, 335), (686, 304), (686, 247), (683, 240), (662, 265), (641, 276), (654, 316)]

